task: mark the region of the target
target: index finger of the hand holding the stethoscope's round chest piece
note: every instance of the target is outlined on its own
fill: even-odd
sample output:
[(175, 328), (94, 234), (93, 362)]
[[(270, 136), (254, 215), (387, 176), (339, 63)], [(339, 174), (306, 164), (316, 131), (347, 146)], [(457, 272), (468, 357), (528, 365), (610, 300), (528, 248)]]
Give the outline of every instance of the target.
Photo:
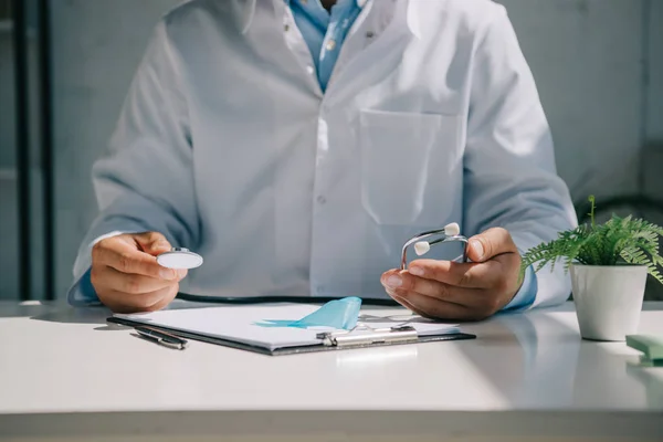
[(178, 277), (175, 270), (160, 266), (155, 256), (115, 238), (101, 241), (94, 246), (93, 265), (96, 264), (110, 266), (122, 273), (135, 273), (168, 281)]

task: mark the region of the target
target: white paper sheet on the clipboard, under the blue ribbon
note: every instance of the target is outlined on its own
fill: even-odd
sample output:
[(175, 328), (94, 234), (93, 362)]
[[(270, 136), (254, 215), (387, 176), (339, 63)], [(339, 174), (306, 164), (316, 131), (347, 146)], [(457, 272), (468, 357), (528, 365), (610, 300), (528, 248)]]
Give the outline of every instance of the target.
[[(316, 335), (320, 333), (320, 329), (261, 327), (255, 323), (269, 319), (296, 320), (317, 308), (319, 305), (308, 304), (223, 306), (115, 315), (115, 317), (275, 350), (284, 347), (319, 345), (322, 340)], [(359, 323), (371, 328), (388, 328), (407, 323), (407, 325), (413, 326), (420, 336), (457, 332), (456, 325), (434, 323), (410, 315), (361, 314)]]

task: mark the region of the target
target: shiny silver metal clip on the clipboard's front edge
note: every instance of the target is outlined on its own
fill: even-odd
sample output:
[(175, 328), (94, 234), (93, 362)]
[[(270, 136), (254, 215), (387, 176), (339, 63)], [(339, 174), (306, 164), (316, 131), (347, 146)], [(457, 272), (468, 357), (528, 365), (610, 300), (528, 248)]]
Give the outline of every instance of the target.
[(412, 326), (397, 326), (390, 328), (372, 328), (358, 324), (350, 330), (318, 333), (326, 347), (367, 347), (376, 344), (403, 344), (415, 343), (419, 335)]

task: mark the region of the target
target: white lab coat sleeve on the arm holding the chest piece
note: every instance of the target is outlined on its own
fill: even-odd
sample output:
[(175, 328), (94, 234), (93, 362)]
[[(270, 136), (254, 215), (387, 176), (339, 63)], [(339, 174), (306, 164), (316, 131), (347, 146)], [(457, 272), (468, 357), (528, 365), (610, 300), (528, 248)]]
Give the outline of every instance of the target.
[(156, 28), (107, 152), (93, 166), (101, 213), (74, 264), (71, 304), (98, 301), (88, 282), (91, 249), (104, 235), (161, 232), (173, 246), (199, 241), (192, 146), (179, 56), (167, 21)]

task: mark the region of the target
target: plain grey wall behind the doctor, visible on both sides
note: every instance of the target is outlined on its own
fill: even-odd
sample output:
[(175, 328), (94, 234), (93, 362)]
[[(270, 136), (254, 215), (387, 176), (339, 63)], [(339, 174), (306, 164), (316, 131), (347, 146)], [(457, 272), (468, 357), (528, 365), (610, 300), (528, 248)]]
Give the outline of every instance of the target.
[[(534, 71), (557, 144), (558, 169), (573, 197), (636, 190), (643, 138), (663, 139), (663, 1), (501, 2)], [(152, 24), (175, 3), (52, 0), (61, 294), (96, 213), (91, 164), (113, 130)], [(654, 192), (663, 196), (663, 187)]]

